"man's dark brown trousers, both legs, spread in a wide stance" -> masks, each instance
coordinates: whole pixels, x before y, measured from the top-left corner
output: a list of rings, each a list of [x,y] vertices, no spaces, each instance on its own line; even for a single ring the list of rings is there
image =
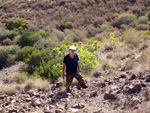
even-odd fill
[[[66,90],[70,90],[70,85],[74,77],[77,79],[81,87],[86,86],[85,81],[83,80],[83,77],[79,74],[79,72],[75,74],[66,74]]]

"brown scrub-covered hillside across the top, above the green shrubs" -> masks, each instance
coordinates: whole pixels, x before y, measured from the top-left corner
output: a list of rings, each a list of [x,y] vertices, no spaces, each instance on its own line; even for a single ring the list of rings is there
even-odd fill
[[[14,17],[29,20],[35,27],[63,20],[72,23],[73,28],[83,29],[103,22],[115,23],[118,15],[133,13],[144,16],[150,10],[149,0],[1,0],[0,20],[5,25]]]

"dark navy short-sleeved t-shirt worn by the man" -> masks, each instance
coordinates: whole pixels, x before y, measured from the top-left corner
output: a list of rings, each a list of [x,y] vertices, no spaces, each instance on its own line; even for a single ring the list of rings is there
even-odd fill
[[[75,53],[73,59],[70,57],[69,54],[67,54],[64,57],[63,63],[66,64],[66,73],[67,74],[75,74],[78,71],[78,62],[79,61],[79,57],[78,55]]]

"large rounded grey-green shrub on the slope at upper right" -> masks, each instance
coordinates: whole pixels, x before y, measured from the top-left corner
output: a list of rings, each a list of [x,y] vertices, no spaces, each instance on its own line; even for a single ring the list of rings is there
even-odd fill
[[[119,26],[123,24],[133,26],[136,22],[136,19],[137,17],[134,14],[124,13],[117,18],[117,23]]]

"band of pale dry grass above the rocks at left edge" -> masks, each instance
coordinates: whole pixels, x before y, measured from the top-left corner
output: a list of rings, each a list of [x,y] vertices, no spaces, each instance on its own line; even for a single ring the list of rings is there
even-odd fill
[[[23,75],[25,76],[25,75]],[[13,78],[13,82],[10,84],[0,84],[0,94],[14,94],[17,91],[21,90],[34,90],[34,91],[39,91],[39,90],[46,90],[49,88],[49,81],[41,78],[36,78],[36,77],[30,77],[28,79],[18,79],[18,75]],[[18,82],[19,80],[19,82]],[[25,81],[22,81],[25,80]]]

